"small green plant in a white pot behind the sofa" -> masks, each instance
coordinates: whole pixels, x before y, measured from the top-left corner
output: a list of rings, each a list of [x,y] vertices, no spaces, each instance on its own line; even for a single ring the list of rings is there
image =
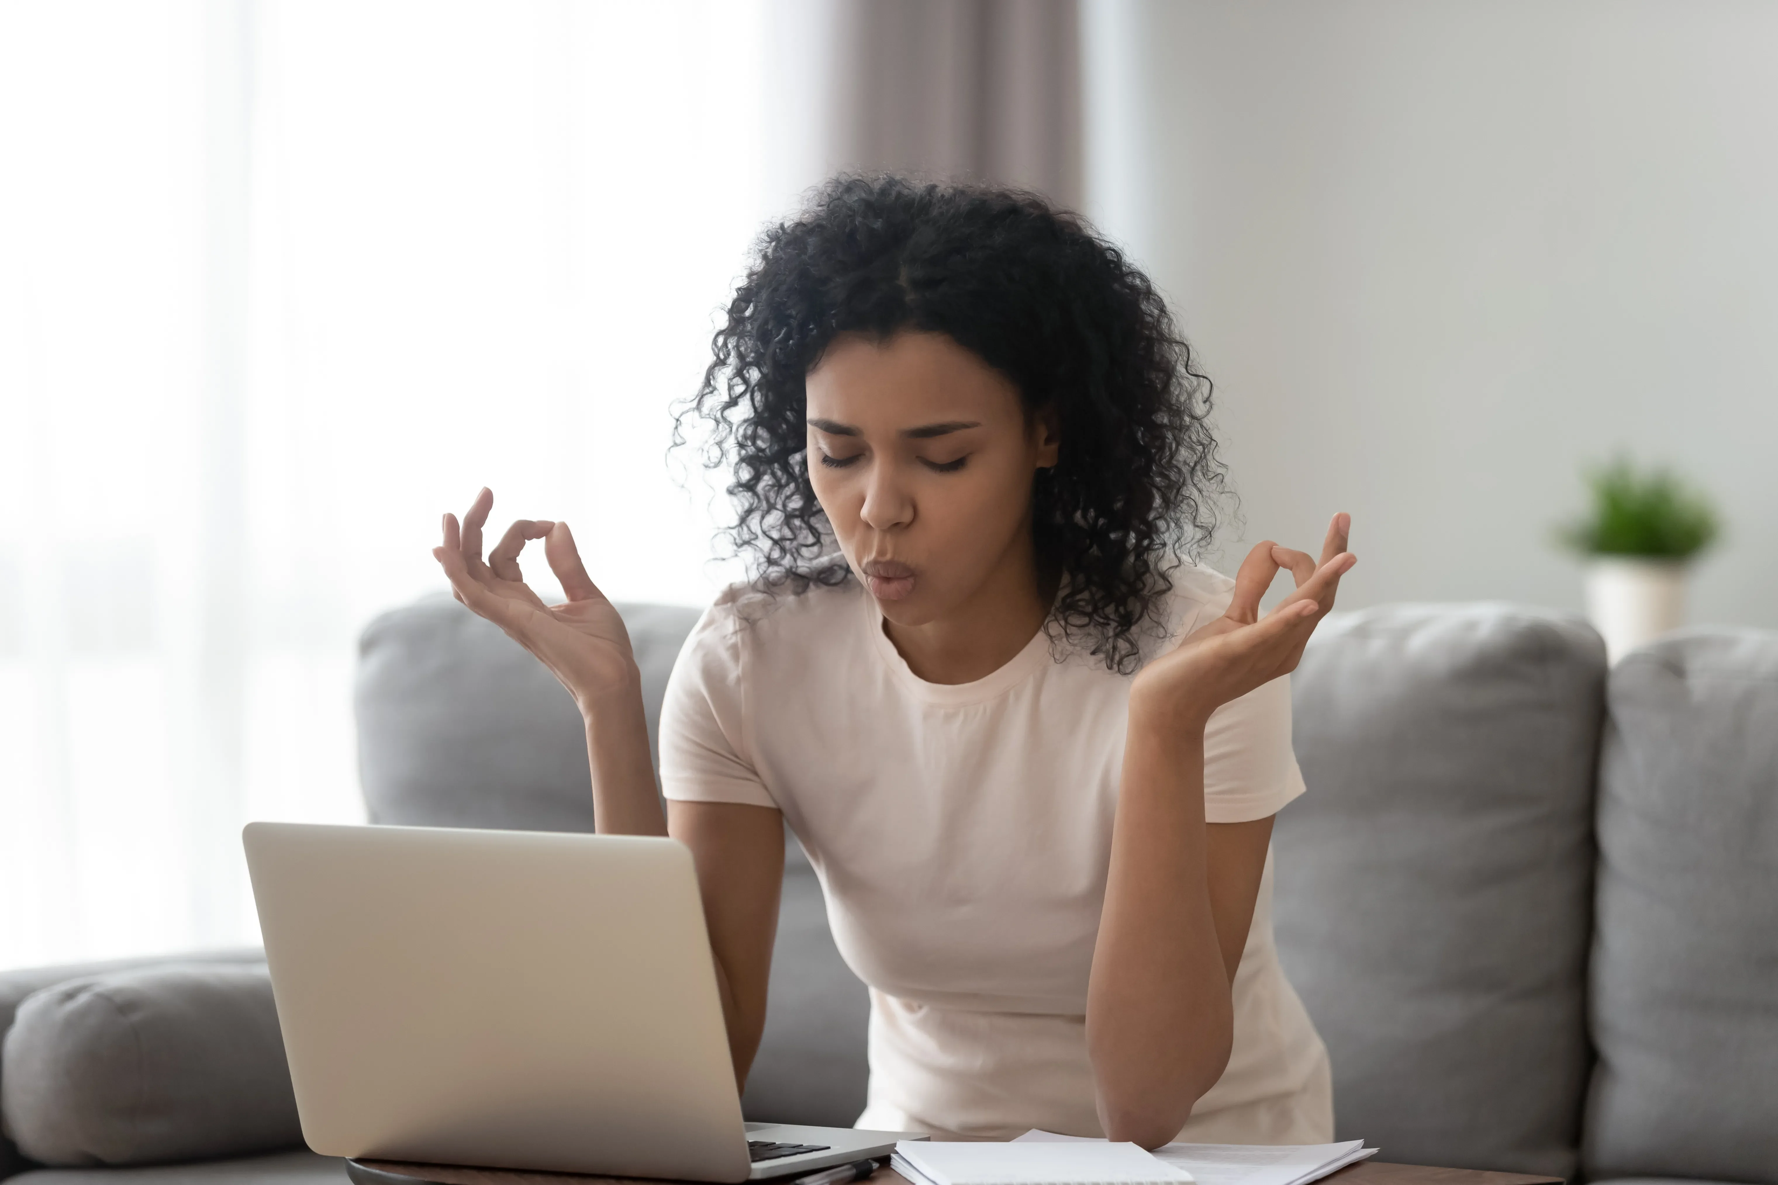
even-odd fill
[[[1590,469],[1586,485],[1590,512],[1558,535],[1586,558],[1586,615],[1616,663],[1684,622],[1689,565],[1719,524],[1671,471],[1638,469],[1629,457]]]

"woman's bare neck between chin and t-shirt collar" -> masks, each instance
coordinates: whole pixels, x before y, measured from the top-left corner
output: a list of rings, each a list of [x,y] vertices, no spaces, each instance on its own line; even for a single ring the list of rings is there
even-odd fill
[[[910,672],[926,682],[974,682],[1010,663],[1044,627],[1056,581],[1038,572],[1031,533],[1017,540],[955,611],[923,625],[884,620]]]

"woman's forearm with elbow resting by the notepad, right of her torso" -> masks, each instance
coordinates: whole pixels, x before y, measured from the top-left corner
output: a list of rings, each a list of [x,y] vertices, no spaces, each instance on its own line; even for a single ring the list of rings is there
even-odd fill
[[[1133,712],[1086,995],[1099,1117],[1115,1141],[1173,1139],[1229,1061],[1205,847],[1202,725]]]

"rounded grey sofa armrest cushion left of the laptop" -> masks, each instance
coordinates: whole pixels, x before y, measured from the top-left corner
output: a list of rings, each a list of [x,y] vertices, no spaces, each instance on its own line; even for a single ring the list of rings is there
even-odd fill
[[[263,966],[169,965],[44,988],[18,1009],[5,1126],[50,1165],[156,1164],[300,1146]]]

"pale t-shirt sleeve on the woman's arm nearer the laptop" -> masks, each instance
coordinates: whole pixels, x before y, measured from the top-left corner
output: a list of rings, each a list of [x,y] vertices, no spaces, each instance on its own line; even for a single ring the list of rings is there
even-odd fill
[[[661,702],[661,792],[693,803],[772,807],[749,759],[740,622],[727,599],[699,618]]]

